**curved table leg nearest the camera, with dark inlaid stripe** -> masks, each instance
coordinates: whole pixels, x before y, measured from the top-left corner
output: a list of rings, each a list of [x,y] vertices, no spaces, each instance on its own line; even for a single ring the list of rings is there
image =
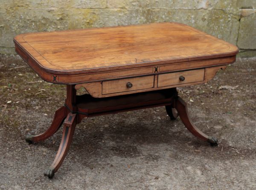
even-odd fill
[[[62,139],[58,149],[58,153],[56,154],[55,159],[52,162],[52,165],[49,167],[49,169],[47,169],[44,172],[44,176],[48,176],[49,179],[51,179],[54,176],[54,174],[57,172],[59,167],[61,167],[61,164],[64,161],[65,156],[67,155],[67,151],[68,151],[68,148],[70,147],[70,143],[73,138],[76,124],[77,124],[76,113],[75,114],[69,113],[67,115],[67,118],[64,121]]]

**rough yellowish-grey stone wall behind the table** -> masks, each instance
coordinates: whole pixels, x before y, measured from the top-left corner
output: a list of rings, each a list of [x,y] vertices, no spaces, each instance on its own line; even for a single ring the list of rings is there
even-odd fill
[[[256,0],[0,0],[0,53],[20,33],[179,22],[256,56]]]

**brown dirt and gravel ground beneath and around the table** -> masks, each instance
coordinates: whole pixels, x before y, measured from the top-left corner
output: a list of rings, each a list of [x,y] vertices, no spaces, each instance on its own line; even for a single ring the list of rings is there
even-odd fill
[[[178,88],[192,120],[219,139],[196,139],[164,107],[84,119],[52,180],[61,130],[29,145],[51,124],[65,86],[42,81],[18,56],[0,56],[0,189],[255,190],[256,60],[242,59],[204,85]],[[79,91],[83,93],[83,91]]]

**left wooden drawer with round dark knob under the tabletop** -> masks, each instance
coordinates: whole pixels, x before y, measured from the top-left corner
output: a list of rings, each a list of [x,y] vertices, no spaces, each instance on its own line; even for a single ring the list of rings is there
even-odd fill
[[[137,91],[147,88],[154,88],[154,75],[102,82],[102,94]]]

